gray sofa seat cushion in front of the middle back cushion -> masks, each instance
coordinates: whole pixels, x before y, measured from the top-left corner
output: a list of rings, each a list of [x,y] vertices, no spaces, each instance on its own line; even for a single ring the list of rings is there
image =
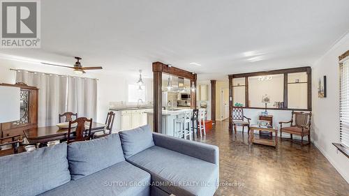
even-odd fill
[[[99,172],[49,190],[41,195],[89,196],[150,194],[150,174],[122,161]]]

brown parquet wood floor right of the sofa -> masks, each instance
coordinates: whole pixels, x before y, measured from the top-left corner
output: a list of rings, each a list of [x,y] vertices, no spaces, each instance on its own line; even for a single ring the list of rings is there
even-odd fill
[[[349,195],[349,184],[313,144],[301,147],[283,141],[279,149],[250,146],[246,131],[235,137],[228,122],[219,121],[199,141],[220,150],[220,181],[225,185],[216,196]]]

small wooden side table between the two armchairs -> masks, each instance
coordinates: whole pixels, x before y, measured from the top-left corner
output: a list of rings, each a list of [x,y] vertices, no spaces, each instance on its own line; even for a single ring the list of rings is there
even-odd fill
[[[259,130],[259,131],[265,131],[269,132],[270,134],[275,133],[275,138],[267,139],[267,138],[256,138],[254,137],[253,131],[254,130]],[[263,145],[268,145],[268,146],[274,146],[276,149],[278,148],[278,130],[277,128],[267,128],[267,127],[260,127],[258,125],[251,125],[250,126],[250,142],[251,144],[263,144]]]

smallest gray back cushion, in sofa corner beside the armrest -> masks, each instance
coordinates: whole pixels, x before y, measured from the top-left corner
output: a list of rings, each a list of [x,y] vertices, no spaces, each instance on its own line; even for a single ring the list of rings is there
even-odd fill
[[[153,134],[149,125],[119,132],[125,158],[154,146]]]

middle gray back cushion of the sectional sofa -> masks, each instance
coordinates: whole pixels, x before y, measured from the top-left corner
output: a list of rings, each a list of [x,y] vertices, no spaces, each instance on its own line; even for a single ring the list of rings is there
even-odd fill
[[[118,134],[68,144],[67,158],[72,180],[88,176],[125,160]]]

